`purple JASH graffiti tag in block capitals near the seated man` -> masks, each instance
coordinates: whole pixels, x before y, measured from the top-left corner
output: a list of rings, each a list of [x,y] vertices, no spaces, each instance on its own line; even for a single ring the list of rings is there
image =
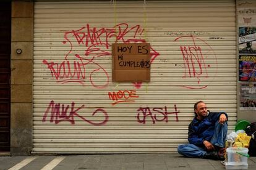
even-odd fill
[[[149,107],[140,107],[137,110],[138,111],[137,121],[139,123],[145,124],[146,118],[149,117],[153,124],[155,124],[156,121],[165,121],[166,123],[168,123],[168,115],[173,115],[173,114],[175,115],[176,121],[179,121],[179,118],[177,115],[179,111],[177,111],[176,105],[174,105],[175,111],[173,112],[168,112],[166,106],[164,106],[164,108],[155,107],[152,110],[155,112],[155,114],[152,114],[153,111],[151,111]],[[159,116],[161,116],[161,118],[159,118]]]

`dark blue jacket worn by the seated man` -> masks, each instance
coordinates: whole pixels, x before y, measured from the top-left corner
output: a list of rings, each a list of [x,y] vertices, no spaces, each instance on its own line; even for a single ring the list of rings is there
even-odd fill
[[[202,120],[198,120],[197,115],[195,115],[195,118],[189,124],[189,144],[203,147],[204,140],[210,142],[215,130],[215,123],[216,121],[219,121],[220,115],[223,113],[226,115],[228,120],[228,115],[225,112],[209,111],[208,116]]]

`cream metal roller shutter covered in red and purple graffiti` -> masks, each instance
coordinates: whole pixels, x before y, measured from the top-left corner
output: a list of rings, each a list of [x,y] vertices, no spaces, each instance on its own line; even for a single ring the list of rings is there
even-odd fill
[[[34,31],[33,153],[176,152],[198,100],[234,129],[233,0],[38,1]],[[116,36],[150,43],[150,83],[111,82]]]

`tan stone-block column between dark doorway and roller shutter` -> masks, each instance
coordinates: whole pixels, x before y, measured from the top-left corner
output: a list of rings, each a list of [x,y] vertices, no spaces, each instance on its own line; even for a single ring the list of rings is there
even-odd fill
[[[11,155],[30,155],[33,129],[33,1],[12,1]]]

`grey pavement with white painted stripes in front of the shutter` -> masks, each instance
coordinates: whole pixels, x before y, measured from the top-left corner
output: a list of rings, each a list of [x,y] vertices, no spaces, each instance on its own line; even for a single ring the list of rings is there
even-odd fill
[[[248,169],[256,169],[256,157],[248,158]],[[225,169],[221,161],[185,158],[178,153],[0,156],[0,169]]]

